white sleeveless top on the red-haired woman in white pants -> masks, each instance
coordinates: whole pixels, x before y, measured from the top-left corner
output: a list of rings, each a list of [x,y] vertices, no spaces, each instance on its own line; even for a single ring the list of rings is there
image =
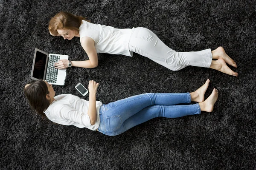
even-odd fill
[[[133,56],[128,44],[132,29],[117,29],[111,26],[89,23],[82,20],[79,27],[80,43],[82,37],[90,37],[94,40],[97,53],[122,54]]]

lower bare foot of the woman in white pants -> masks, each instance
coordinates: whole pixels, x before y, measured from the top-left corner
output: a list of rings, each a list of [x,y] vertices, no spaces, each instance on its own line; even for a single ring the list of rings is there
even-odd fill
[[[213,68],[215,70],[221,71],[222,73],[226,73],[229,74],[231,76],[238,76],[238,73],[232,71],[226,64],[226,62],[224,61],[224,59],[220,58],[216,61],[212,60],[212,64],[210,66],[210,68]]]

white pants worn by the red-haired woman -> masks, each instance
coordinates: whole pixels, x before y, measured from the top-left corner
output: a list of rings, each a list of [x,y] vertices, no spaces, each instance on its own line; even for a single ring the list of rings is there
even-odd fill
[[[129,41],[129,50],[152,59],[172,71],[186,66],[209,68],[212,63],[211,49],[191,52],[176,52],[165,45],[147,28],[134,28]]]

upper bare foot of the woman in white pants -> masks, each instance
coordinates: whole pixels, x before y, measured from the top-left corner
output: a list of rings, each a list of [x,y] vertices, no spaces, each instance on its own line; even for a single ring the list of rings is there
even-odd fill
[[[227,64],[232,65],[235,68],[237,67],[236,62],[226,54],[224,48],[222,47],[218,47],[212,51],[212,59],[220,59],[220,58],[224,59],[224,61]]]

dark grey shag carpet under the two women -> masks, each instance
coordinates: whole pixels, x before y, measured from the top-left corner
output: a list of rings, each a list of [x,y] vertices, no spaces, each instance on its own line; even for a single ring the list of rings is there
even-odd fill
[[[254,0],[0,0],[0,169],[232,169],[256,168],[256,1]],[[23,94],[35,48],[87,59],[79,38],[52,37],[59,11],[116,28],[145,27],[176,51],[223,46],[238,64],[232,77],[209,68],[170,71],[134,54],[99,54],[94,69],[67,69],[57,94],[100,83],[109,103],[147,92],[191,92],[211,79],[219,98],[212,113],[157,118],[119,136],[54,124],[30,109]],[[84,99],[88,100],[88,96]]]

